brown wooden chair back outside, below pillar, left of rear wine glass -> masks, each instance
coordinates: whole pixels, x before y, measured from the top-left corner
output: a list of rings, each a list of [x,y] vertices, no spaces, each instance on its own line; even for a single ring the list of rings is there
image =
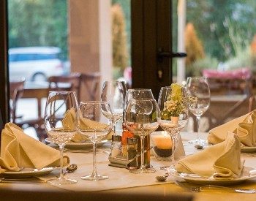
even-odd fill
[[[89,100],[97,100],[97,91],[99,90],[100,73],[82,73],[81,82],[86,88],[86,92],[89,95]]]

